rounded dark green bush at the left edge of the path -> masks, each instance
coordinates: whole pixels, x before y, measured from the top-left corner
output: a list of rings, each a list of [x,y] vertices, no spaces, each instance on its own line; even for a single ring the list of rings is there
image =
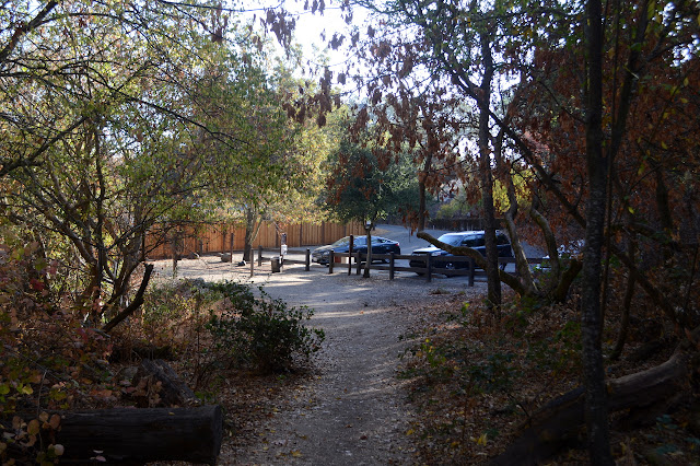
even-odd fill
[[[225,350],[231,364],[283,372],[320,349],[324,331],[304,325],[313,315],[311,308],[288,307],[261,288],[260,298],[256,298],[248,287],[234,282],[214,283],[211,289],[221,292],[225,303],[221,315],[212,315],[207,328],[215,349]]]

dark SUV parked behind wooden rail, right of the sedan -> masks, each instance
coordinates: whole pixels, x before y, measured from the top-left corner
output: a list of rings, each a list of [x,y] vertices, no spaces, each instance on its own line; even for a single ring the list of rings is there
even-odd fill
[[[481,253],[482,256],[486,256],[486,241],[483,235],[483,231],[468,231],[459,233],[445,233],[438,240],[451,246],[471,247]],[[495,232],[495,247],[499,251],[499,257],[513,257],[513,248],[511,247],[511,242],[505,233],[500,231]],[[409,261],[410,267],[425,267],[425,260],[423,257],[421,257],[425,254],[438,257],[433,259],[433,268],[436,269],[454,270],[466,269],[468,267],[468,263],[452,261],[450,258],[454,257],[453,254],[432,245],[413,251],[413,255],[417,257]]]

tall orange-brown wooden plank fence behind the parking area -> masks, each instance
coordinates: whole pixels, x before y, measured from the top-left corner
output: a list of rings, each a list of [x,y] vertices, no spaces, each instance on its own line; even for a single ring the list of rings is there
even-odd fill
[[[319,224],[298,223],[281,226],[272,221],[265,221],[260,226],[253,247],[279,248],[282,234],[287,234],[288,247],[316,246],[334,243],[343,236],[364,234],[360,222]],[[174,244],[175,242],[175,244]],[[147,235],[145,251],[149,259],[166,259],[173,252],[182,257],[192,254],[217,254],[231,251],[243,251],[245,244],[245,225],[232,223],[214,223],[171,229],[163,234]]]

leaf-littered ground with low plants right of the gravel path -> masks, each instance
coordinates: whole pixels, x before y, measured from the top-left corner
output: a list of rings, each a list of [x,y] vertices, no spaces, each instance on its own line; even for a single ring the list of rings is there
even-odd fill
[[[537,407],[580,384],[575,307],[533,308],[509,300],[500,325],[481,303],[465,304],[460,295],[423,310],[423,323],[410,336],[420,342],[406,354],[400,376],[410,380],[410,400],[422,413],[409,433],[425,464],[486,463],[504,451]],[[608,317],[608,351],[616,317]],[[619,362],[606,362],[609,377],[656,365],[674,348],[667,345],[640,362],[648,338],[638,331],[630,339]],[[632,429],[623,429],[626,413],[612,416],[618,464],[700,464],[697,395],[689,385],[670,413],[652,415]],[[580,441],[550,464],[586,463]]]

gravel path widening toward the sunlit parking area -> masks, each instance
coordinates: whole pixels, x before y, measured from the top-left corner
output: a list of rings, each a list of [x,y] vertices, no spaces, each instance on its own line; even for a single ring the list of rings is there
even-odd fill
[[[404,230],[404,229],[400,229]],[[397,229],[396,235],[405,234]],[[388,234],[387,234],[388,233]],[[378,235],[392,237],[392,231]],[[422,246],[417,238],[411,249]],[[408,244],[406,244],[408,246]],[[160,268],[161,277],[167,270]],[[431,283],[415,273],[373,271],[372,277],[334,275],[315,266],[284,266],[282,273],[256,271],[215,259],[180,263],[180,276],[237,279],[264,284],[272,298],[315,310],[311,325],[326,331],[317,358],[318,373],[290,396],[285,408],[257,428],[256,444],[233,450],[224,444],[219,464],[244,465],[384,465],[416,464],[417,452],[407,431],[413,416],[396,377],[398,356],[409,345],[405,335],[420,318],[423,303],[436,293],[483,293],[485,283],[468,288],[467,279],[436,276]],[[199,270],[197,270],[199,269]]]

